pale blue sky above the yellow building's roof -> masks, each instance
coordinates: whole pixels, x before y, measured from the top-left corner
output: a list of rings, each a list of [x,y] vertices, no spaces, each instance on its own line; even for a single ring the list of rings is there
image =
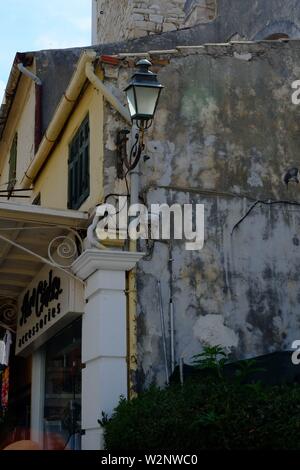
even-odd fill
[[[16,52],[91,44],[91,0],[0,0],[0,104]]]

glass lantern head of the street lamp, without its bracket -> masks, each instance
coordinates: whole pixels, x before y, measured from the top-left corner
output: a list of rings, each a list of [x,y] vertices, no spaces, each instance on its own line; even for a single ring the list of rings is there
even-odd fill
[[[157,74],[149,70],[152,65],[149,60],[139,60],[136,65],[139,69],[124,91],[131,120],[136,121],[139,129],[149,129],[164,87],[157,80]]]

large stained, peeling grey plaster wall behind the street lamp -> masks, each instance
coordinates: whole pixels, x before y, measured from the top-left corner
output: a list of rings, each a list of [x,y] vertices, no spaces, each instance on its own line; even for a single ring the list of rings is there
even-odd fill
[[[111,86],[131,75],[124,62]],[[285,171],[299,166],[300,43],[243,44],[153,55],[165,85],[142,162],[141,196],[152,202],[205,205],[205,246],[156,243],[139,265],[138,382],[164,382],[157,280],[168,324],[173,262],[176,359],[206,344],[235,358],[289,349],[300,339],[299,187]],[[169,62],[169,63],[168,63]],[[126,65],[127,64],[127,65]],[[110,118],[109,118],[110,116]],[[118,189],[116,129],[106,108],[105,191]],[[126,126],[125,126],[126,127]],[[259,203],[233,231],[257,200]],[[291,203],[289,203],[290,201]],[[146,249],[142,244],[141,249]],[[168,333],[169,345],[169,333]]]

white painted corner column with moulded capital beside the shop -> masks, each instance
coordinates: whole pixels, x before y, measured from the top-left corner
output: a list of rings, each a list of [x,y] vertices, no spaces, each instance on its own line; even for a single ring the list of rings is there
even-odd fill
[[[110,415],[120,396],[127,397],[126,271],[143,253],[89,249],[72,266],[86,281],[82,318],[83,450],[101,450],[102,411]]]

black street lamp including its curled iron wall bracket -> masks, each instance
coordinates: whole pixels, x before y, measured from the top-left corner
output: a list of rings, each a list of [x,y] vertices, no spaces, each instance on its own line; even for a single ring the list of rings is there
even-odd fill
[[[133,74],[130,83],[125,88],[129,113],[132,123],[136,123],[139,132],[135,136],[130,155],[127,155],[128,134],[122,129],[117,136],[117,176],[125,178],[139,163],[144,145],[144,132],[149,129],[154,118],[159,97],[164,88],[157,79],[157,74],[149,70],[151,62],[142,59],[137,62],[138,70]],[[147,159],[147,157],[144,157]],[[124,172],[124,166],[127,171]]]

